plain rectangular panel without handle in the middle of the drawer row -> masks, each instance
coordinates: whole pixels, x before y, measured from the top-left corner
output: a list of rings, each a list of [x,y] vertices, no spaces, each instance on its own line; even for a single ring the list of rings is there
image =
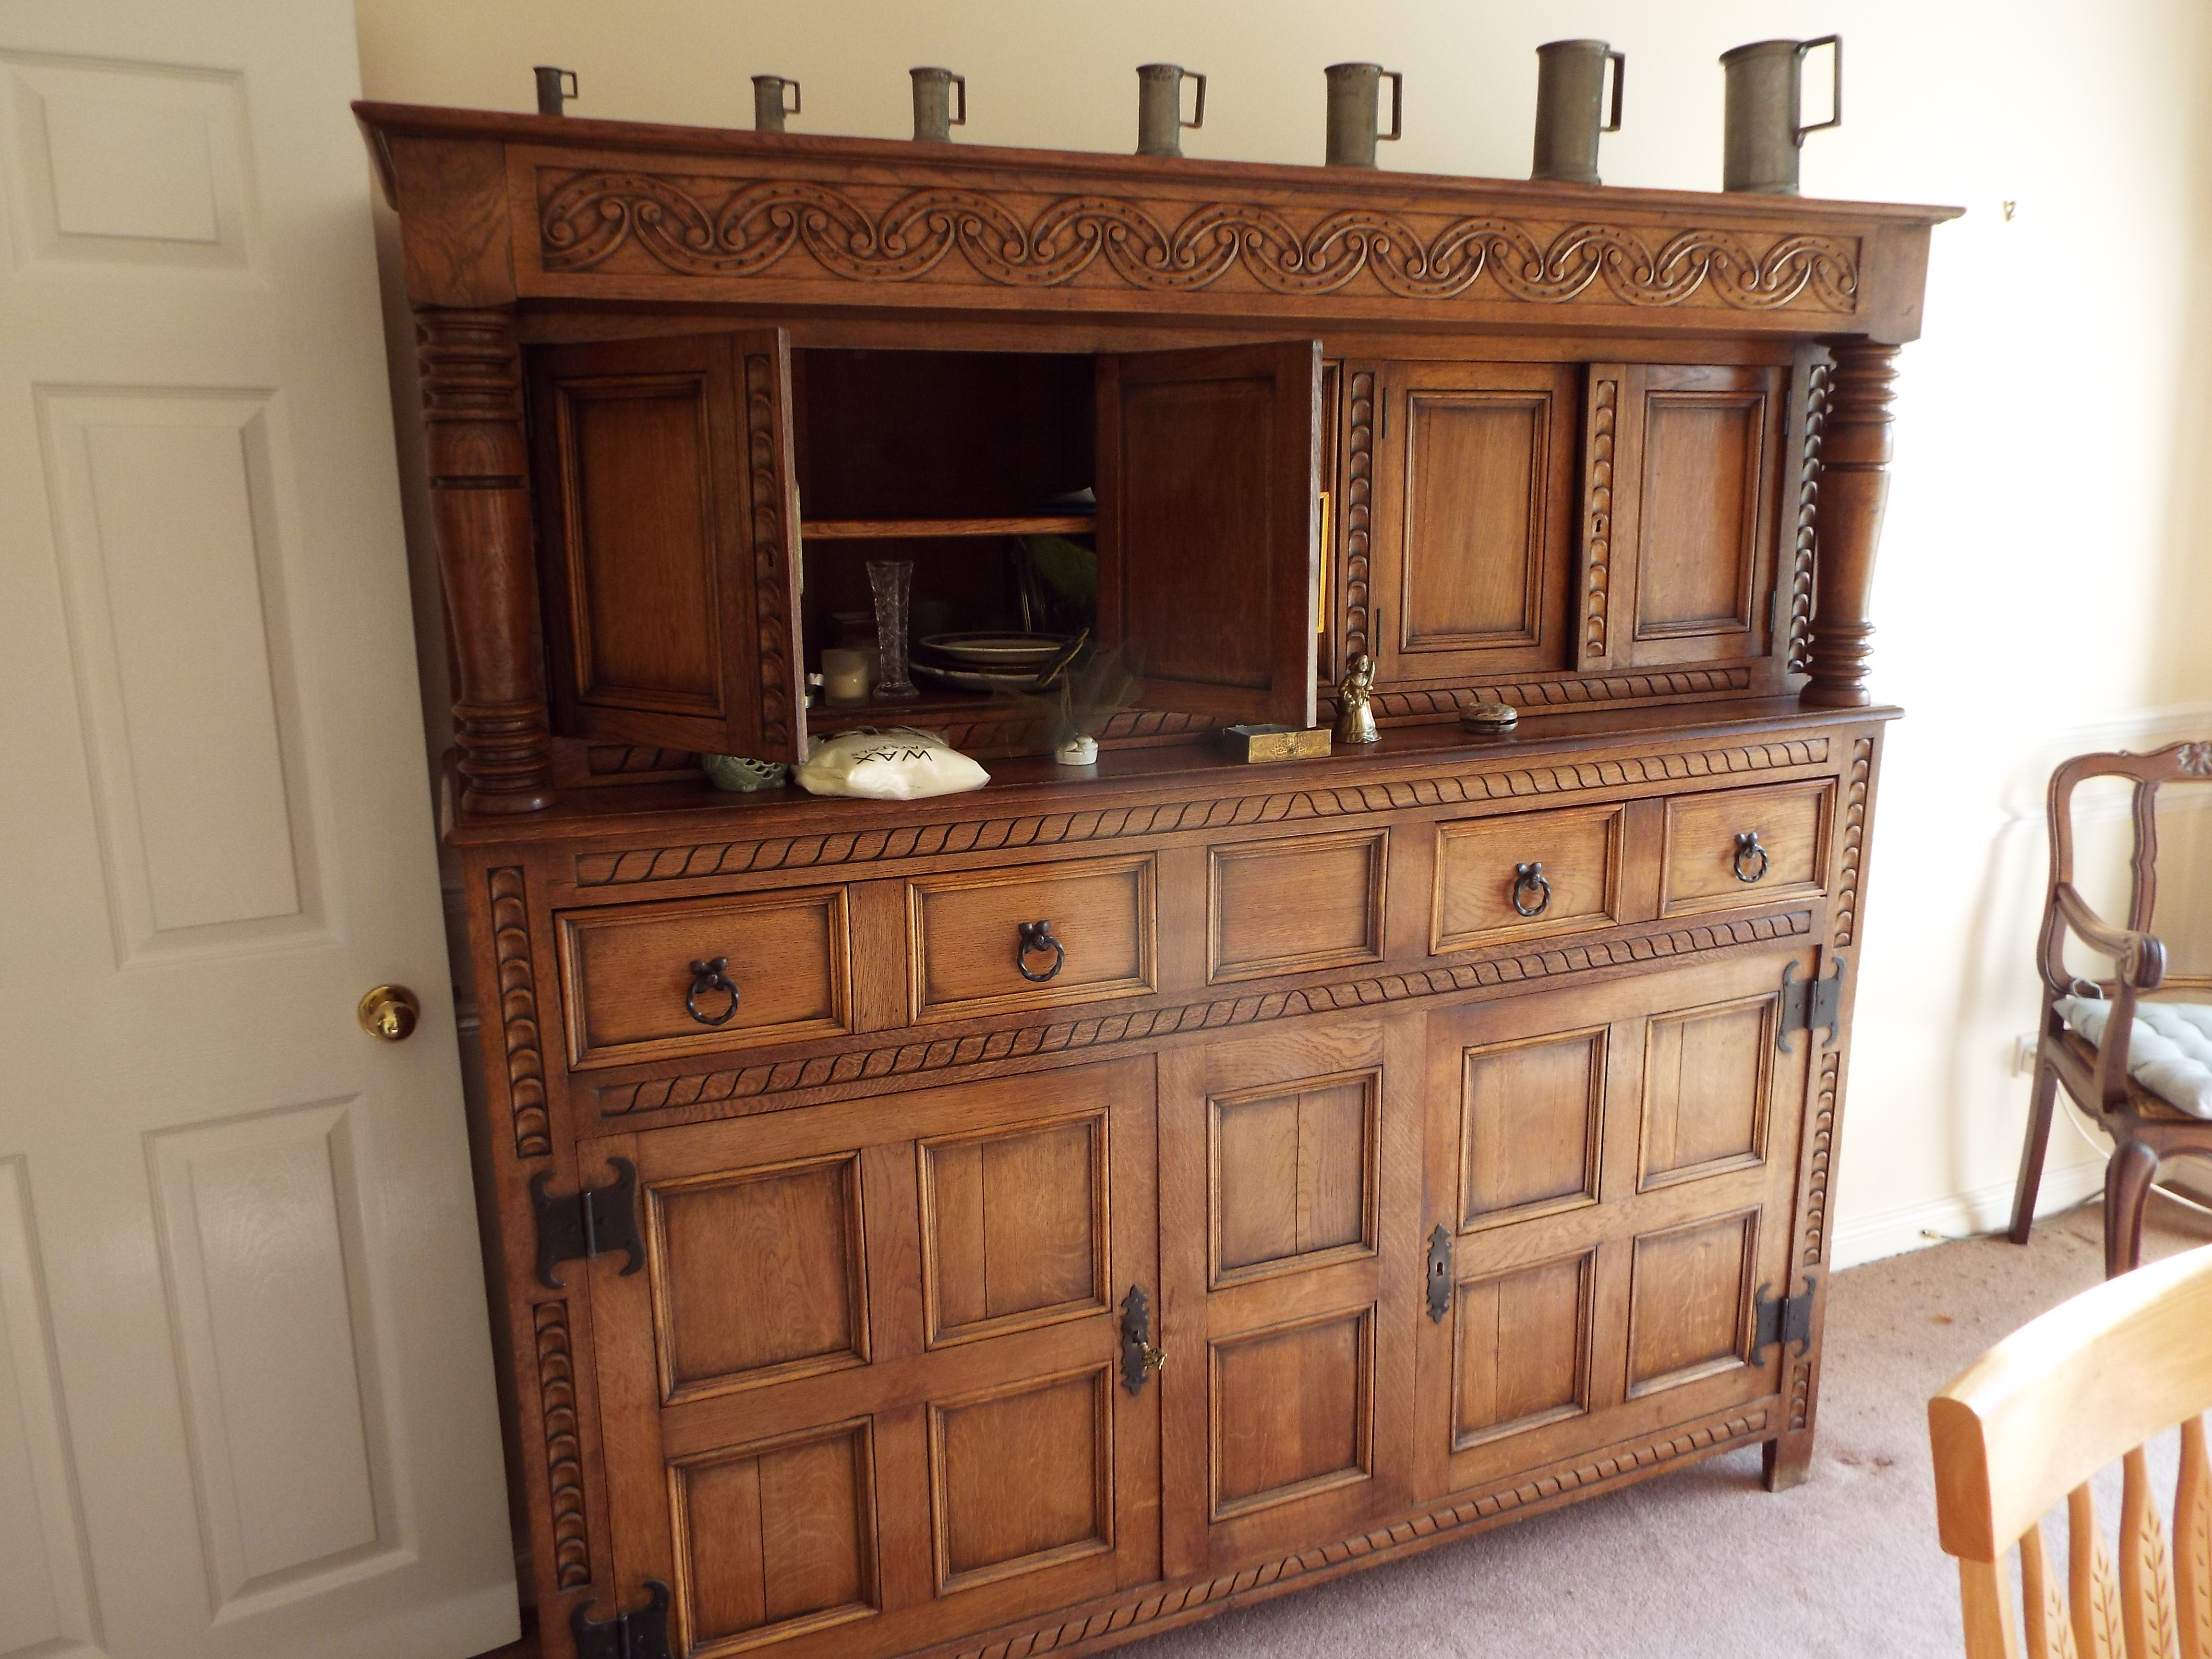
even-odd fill
[[[1210,852],[1208,984],[1383,960],[1389,830]]]

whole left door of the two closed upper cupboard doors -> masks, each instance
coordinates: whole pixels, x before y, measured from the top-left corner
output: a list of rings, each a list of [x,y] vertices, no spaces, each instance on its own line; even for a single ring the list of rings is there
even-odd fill
[[[1571,363],[1385,363],[1376,679],[1568,668]]]

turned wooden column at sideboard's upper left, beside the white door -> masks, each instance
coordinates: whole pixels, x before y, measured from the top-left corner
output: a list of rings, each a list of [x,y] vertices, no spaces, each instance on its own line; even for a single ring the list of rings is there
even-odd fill
[[[453,739],[469,812],[553,803],[538,677],[538,568],[513,312],[416,310],[429,498],[438,522]]]

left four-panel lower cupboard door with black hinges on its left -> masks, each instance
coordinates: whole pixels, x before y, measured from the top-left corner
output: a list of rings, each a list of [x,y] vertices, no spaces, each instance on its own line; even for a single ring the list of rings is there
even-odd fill
[[[1157,1579],[1152,1104],[1133,1060],[591,1144],[646,1254],[591,1263],[622,1604],[887,1655]]]

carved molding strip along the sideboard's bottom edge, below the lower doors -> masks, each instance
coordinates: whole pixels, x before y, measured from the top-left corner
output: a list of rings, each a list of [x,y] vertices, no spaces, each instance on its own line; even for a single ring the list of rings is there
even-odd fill
[[[1663,1462],[1690,1458],[1699,1451],[1725,1447],[1734,1440],[1745,1440],[1765,1427],[1765,1411],[1745,1411],[1739,1418],[1683,1429],[1663,1440],[1624,1447],[1613,1455],[1575,1464],[1573,1469],[1559,1469],[1517,1486],[1502,1486],[1498,1491],[1482,1493],[1480,1498],[1451,1504],[1449,1509],[1416,1515],[1413,1520],[1398,1522],[1396,1526],[1383,1526],[1371,1533],[1347,1537],[1340,1544],[1327,1544],[1323,1548],[1305,1551],[1303,1555],[1287,1555],[1281,1562],[1267,1562],[1265,1566],[1248,1566],[1243,1573],[1230,1573],[1181,1590],[1168,1590],[1166,1595],[1146,1595],[1137,1601],[1124,1601],[1121,1606],[1093,1613],[1086,1619],[1022,1630],[1020,1635],[993,1641],[987,1648],[969,1648],[960,1655],[960,1659],[1031,1659],[1031,1655],[1040,1652],[1060,1652],[1082,1641],[1128,1630],[1130,1626],[1170,1619],[1177,1613],[1188,1613],[1190,1608],[1203,1608],[1214,1601],[1245,1595],[1248,1590],[1261,1590],[1270,1584],[1305,1577],[1307,1573],[1318,1573],[1323,1568],[1358,1559],[1360,1555],[1400,1548],[1422,1537],[1436,1537],[1438,1533],[1453,1533],[1462,1526],[1491,1520],[1493,1515],[1542,1504],[1559,1493],[1582,1491],[1584,1486],[1601,1486],[1608,1480],[1619,1480],[1621,1475],[1639,1469],[1652,1469]]]

